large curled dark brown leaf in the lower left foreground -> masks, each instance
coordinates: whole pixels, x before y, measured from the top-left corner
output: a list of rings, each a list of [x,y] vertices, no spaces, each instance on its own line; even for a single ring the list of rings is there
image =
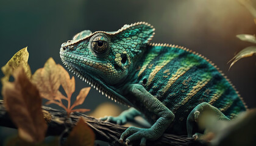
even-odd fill
[[[13,123],[18,127],[19,136],[29,142],[41,142],[47,125],[41,110],[41,98],[22,67],[13,72],[15,82],[4,83],[2,95]]]

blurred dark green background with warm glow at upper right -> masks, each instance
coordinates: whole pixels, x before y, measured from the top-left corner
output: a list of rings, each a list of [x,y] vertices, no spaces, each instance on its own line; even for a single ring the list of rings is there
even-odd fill
[[[76,33],[85,29],[115,31],[137,21],[155,27],[152,42],[179,44],[213,61],[240,91],[249,108],[256,107],[256,58],[244,58],[228,71],[227,61],[235,52],[252,45],[235,35],[254,34],[256,30],[251,13],[234,0],[1,0],[0,66],[26,46],[33,73],[49,57],[62,64],[60,45]],[[87,83],[76,78],[73,96],[85,86]],[[91,89],[80,107],[94,111],[103,102],[112,101]],[[9,131],[0,129],[1,142]]]

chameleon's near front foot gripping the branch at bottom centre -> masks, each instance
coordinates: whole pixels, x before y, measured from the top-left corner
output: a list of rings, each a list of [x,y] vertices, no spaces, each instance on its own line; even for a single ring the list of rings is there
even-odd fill
[[[123,143],[124,138],[126,136],[129,136],[126,138],[126,145],[129,144],[130,141],[135,141],[140,139],[140,145],[146,145],[146,140],[156,139],[157,136],[154,136],[154,132],[151,130],[151,128],[144,129],[144,128],[137,128],[137,127],[129,127],[126,131],[124,131],[123,134],[121,134],[121,137],[119,139],[119,142]]]

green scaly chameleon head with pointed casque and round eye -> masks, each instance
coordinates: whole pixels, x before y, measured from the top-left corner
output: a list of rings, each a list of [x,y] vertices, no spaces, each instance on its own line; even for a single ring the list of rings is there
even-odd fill
[[[96,86],[116,86],[127,77],[135,58],[152,39],[148,23],[125,25],[116,32],[84,30],[62,44],[60,57],[66,66]]]

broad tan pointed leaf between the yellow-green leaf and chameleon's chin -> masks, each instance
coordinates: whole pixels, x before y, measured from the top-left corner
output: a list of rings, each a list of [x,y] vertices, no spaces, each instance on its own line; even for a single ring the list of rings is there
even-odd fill
[[[60,69],[52,58],[49,58],[44,64],[44,68],[37,69],[32,76],[32,82],[35,83],[40,91],[41,97],[48,100],[62,96],[60,88]],[[61,98],[60,97],[60,98]]]

